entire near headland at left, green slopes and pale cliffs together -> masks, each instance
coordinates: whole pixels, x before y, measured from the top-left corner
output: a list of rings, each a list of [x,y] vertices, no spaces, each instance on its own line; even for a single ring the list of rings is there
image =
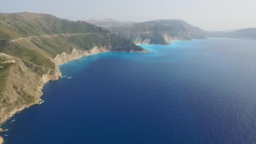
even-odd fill
[[[0,124],[41,101],[58,64],[98,52],[147,52],[107,29],[48,14],[0,14]]]

